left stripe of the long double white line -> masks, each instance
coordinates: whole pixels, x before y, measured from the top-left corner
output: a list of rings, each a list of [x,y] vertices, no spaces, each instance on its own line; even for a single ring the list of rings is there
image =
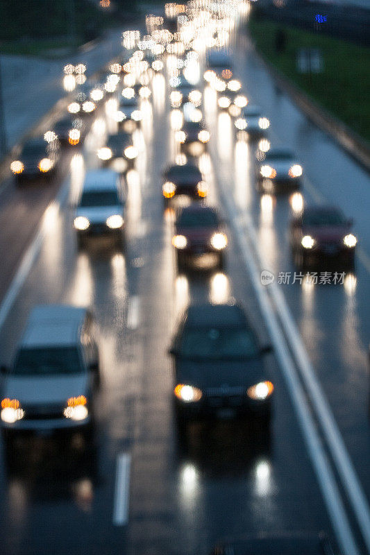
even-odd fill
[[[280,331],[280,326],[273,307],[271,306],[271,300],[267,294],[267,289],[265,289],[260,283],[260,271],[258,270],[258,266],[255,264],[253,259],[251,248],[249,247],[241,226],[233,217],[235,210],[231,204],[230,198],[226,194],[224,187],[222,187],[222,189],[224,203],[230,214],[230,224],[233,226],[235,237],[244,258],[244,264],[251,273],[253,289],[255,290],[255,294],[258,298],[262,316],[267,324],[271,340],[274,343],[276,356],[280,363],[280,368],[283,370],[285,382],[296,411],[298,422],[301,425],[303,437],[305,438],[305,443],[308,447],[312,466],[316,472],[321,493],[326,503],[326,509],[333,524],[333,529],[335,530],[335,535],[338,538],[344,555],[359,555],[360,552],[358,551],[355,539],[353,538],[353,533],[346,516],[342,497],[340,496],[338,486],[335,482],[333,470],[330,468],[330,463],[317,434],[312,414],[310,413],[308,403],[305,400],[305,394],[301,383],[299,382],[296,368],[287,348],[285,338],[283,333]]]

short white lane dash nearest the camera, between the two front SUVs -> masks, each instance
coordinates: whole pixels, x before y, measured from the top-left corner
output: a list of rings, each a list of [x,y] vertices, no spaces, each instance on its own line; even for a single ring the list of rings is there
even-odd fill
[[[117,456],[115,502],[113,506],[113,524],[115,526],[125,526],[128,522],[130,468],[131,455],[120,453]]]

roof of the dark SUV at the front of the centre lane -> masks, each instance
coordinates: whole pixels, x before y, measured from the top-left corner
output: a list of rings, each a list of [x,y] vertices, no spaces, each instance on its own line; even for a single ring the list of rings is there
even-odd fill
[[[194,303],[187,307],[186,317],[187,325],[191,327],[245,326],[247,322],[244,309],[237,304]]]

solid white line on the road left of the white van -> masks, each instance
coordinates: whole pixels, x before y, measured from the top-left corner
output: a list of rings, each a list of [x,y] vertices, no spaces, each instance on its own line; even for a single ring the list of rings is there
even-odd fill
[[[53,200],[45,210],[35,237],[31,245],[26,250],[26,253],[24,253],[22,262],[21,264],[19,264],[17,273],[15,274],[15,277],[13,278],[8,291],[6,291],[6,295],[0,305],[0,329],[1,327],[3,327],[3,324],[8,317],[9,311],[13,303],[15,302],[15,299],[17,298],[19,290],[22,288],[24,282],[26,281],[31,268],[40,253],[42,241],[44,241],[44,237],[47,232],[47,226],[45,225],[47,221],[47,216],[50,213],[58,214],[60,207],[65,203],[67,199],[67,184],[68,180],[66,180],[65,183],[62,185],[56,199]]]

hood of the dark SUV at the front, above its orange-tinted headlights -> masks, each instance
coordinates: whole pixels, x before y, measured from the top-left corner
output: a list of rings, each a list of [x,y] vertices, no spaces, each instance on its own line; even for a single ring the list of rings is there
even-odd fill
[[[262,359],[198,361],[178,359],[176,380],[201,389],[248,388],[266,379]]]

